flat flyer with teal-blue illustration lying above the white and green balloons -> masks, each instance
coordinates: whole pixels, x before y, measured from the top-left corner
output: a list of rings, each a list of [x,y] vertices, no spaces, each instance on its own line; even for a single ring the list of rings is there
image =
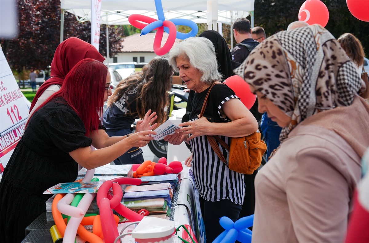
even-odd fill
[[[103,184],[102,181],[89,181],[89,182],[67,182],[59,183],[50,187],[44,191],[43,194],[55,194],[55,193],[94,193],[99,190],[99,187]]]

